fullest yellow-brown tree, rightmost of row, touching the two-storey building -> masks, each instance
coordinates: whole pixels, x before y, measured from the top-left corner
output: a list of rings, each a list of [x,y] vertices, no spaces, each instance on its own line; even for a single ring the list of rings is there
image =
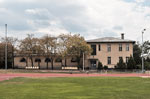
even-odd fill
[[[81,68],[80,61],[81,58],[83,58],[83,53],[85,55],[89,55],[91,51],[92,51],[91,47],[80,35],[75,34],[69,37],[67,44],[67,53],[77,59],[78,68]]]

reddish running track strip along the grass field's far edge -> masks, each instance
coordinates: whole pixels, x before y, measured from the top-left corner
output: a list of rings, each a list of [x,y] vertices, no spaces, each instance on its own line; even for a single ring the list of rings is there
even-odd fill
[[[150,77],[150,74],[61,74],[61,73],[0,73],[0,81],[15,77]]]

